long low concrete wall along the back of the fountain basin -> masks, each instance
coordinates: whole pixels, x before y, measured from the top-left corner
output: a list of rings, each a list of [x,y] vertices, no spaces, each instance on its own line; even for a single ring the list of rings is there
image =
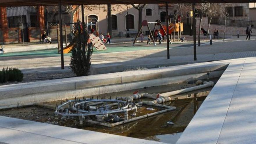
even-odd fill
[[[227,63],[200,63],[0,86],[0,108],[219,77]]]

